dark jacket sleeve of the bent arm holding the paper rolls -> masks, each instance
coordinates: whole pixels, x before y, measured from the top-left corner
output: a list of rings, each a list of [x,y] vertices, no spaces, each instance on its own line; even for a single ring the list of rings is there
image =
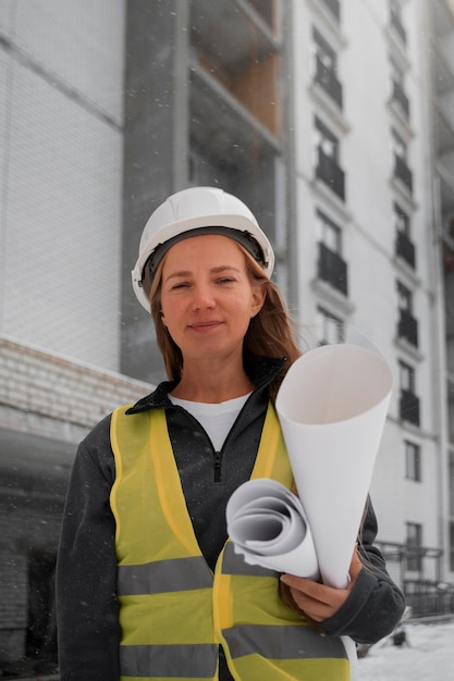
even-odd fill
[[[376,643],[391,633],[402,617],[405,598],[386,572],[382,554],[373,546],[377,531],[377,518],[369,500],[358,543],[364,567],[346,602],[322,622],[329,635],[347,635],[357,643]]]

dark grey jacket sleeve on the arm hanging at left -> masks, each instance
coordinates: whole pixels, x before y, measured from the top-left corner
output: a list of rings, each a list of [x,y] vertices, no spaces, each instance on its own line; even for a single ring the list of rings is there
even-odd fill
[[[109,426],[110,418],[79,445],[66,496],[57,561],[61,681],[120,678]]]

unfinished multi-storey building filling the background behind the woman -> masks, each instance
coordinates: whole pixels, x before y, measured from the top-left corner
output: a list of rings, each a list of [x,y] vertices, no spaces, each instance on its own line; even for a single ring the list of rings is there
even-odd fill
[[[69,471],[163,377],[131,270],[188,185],[257,214],[303,349],[352,326],[389,361],[379,541],[417,614],[453,609],[452,5],[0,3],[0,669],[54,663]]]

